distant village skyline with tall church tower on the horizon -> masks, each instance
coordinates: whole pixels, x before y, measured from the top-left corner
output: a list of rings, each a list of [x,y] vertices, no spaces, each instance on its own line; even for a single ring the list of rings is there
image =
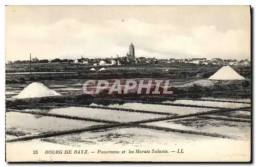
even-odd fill
[[[129,46],[129,53],[123,57],[116,55],[115,57],[110,58],[83,58],[80,59],[53,59],[53,60],[39,60],[36,57],[32,58],[32,63],[75,63],[75,64],[86,64],[86,65],[134,65],[134,64],[157,64],[157,63],[191,63],[199,65],[209,65],[209,66],[249,66],[251,62],[248,59],[245,60],[236,60],[236,59],[226,59],[221,58],[212,58],[207,60],[206,58],[190,58],[190,59],[157,59],[157,58],[146,58],[146,57],[135,57],[135,49],[133,43]],[[17,60],[17,61],[7,61],[7,64],[25,64],[30,63],[30,60]]]

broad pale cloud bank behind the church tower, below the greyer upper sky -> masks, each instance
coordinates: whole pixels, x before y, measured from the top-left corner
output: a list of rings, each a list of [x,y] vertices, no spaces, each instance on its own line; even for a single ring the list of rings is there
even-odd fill
[[[6,29],[7,60],[124,56],[130,43],[136,56],[157,58],[250,57],[250,32],[218,31],[215,26],[189,28],[151,24],[135,18],[87,23],[65,18],[51,24],[10,23]]]

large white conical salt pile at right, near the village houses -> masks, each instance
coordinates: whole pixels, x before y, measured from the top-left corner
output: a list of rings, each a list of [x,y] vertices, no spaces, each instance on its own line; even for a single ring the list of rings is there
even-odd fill
[[[230,66],[223,66],[214,75],[212,75],[209,80],[245,80],[244,77],[240,76],[233,68]]]

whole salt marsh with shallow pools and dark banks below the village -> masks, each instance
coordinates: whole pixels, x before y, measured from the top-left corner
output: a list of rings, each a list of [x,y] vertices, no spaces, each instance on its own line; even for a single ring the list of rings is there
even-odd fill
[[[245,81],[219,81],[210,86],[182,86],[207,79],[219,67],[155,64],[106,67],[103,73],[77,70],[74,64],[33,64],[34,72],[75,72],[6,75],[6,142],[9,147],[34,144],[66,146],[134,146],[228,142],[249,144],[251,88]],[[22,65],[6,73],[27,72]],[[169,71],[162,71],[168,68]],[[20,69],[24,69],[23,71]],[[249,68],[236,68],[250,82]],[[168,79],[174,94],[105,94],[88,96],[88,79]],[[59,97],[14,99],[28,84],[40,82]],[[231,146],[230,146],[231,147]]]

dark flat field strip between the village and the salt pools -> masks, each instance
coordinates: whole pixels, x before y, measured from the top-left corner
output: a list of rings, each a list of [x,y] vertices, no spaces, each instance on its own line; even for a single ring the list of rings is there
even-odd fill
[[[96,71],[90,71],[94,67]],[[105,67],[106,71],[98,72],[100,68]],[[26,83],[26,81],[44,81],[44,80],[66,80],[66,79],[122,79],[122,78],[161,78],[161,79],[206,79],[214,74],[219,66],[201,66],[190,63],[183,64],[139,64],[134,66],[92,66],[73,64],[73,63],[47,63],[32,64],[33,74],[27,74],[29,64],[10,64],[6,65],[6,83]],[[250,79],[250,67],[233,67],[240,75]],[[162,71],[168,69],[168,71]],[[59,72],[48,74],[46,72]],[[14,73],[14,74],[13,74]],[[15,75],[16,73],[16,75]],[[19,74],[21,73],[21,74]],[[8,75],[12,74],[12,75]]]

